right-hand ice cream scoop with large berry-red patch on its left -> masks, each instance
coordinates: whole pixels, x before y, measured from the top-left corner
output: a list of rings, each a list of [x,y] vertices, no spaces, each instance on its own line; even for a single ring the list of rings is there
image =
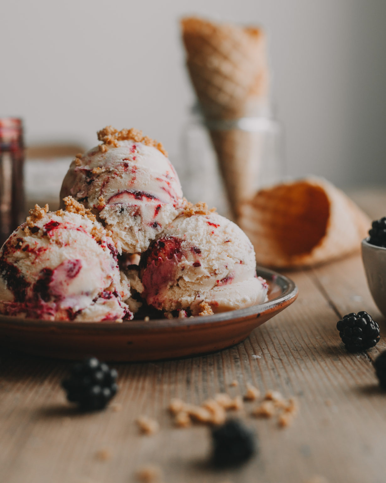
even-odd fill
[[[266,300],[268,286],[256,277],[255,252],[233,222],[205,203],[177,217],[140,262],[142,296],[160,310],[216,313]]]

